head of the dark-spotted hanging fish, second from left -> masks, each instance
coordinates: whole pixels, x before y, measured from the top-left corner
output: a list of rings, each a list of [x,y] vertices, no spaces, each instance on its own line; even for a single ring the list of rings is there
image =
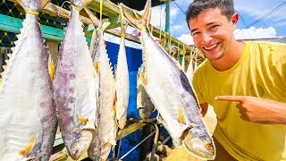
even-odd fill
[[[74,142],[71,145],[70,156],[72,159],[77,160],[88,150],[92,141],[92,132],[88,130],[81,130],[74,135]]]

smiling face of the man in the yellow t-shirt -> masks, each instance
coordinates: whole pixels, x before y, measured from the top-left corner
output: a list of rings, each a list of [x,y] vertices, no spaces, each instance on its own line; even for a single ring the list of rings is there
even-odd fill
[[[218,8],[212,8],[189,20],[195,46],[210,61],[219,60],[227,53],[233,40],[235,19],[238,17],[232,16],[231,21],[228,21]]]

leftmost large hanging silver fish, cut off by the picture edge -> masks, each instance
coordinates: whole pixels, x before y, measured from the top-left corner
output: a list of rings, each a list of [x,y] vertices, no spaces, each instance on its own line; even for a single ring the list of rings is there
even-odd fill
[[[26,11],[26,19],[2,73],[0,160],[48,160],[56,115],[48,54],[38,25],[38,13],[46,4],[40,0],[18,3]]]

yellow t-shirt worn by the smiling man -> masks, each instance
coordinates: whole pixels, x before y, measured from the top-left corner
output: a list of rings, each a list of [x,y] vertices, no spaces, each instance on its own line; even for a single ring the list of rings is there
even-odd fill
[[[198,102],[214,106],[214,137],[238,160],[285,160],[286,125],[250,123],[240,119],[237,103],[215,96],[265,97],[286,103],[286,44],[245,42],[240,61],[216,71],[210,61],[199,65],[193,87]]]

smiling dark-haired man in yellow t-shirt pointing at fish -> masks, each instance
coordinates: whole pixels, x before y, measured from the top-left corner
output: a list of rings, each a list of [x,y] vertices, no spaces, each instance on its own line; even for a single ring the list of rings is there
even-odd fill
[[[193,87],[203,115],[214,106],[215,160],[285,160],[286,45],[235,40],[233,0],[195,0],[186,20],[207,58]]]

